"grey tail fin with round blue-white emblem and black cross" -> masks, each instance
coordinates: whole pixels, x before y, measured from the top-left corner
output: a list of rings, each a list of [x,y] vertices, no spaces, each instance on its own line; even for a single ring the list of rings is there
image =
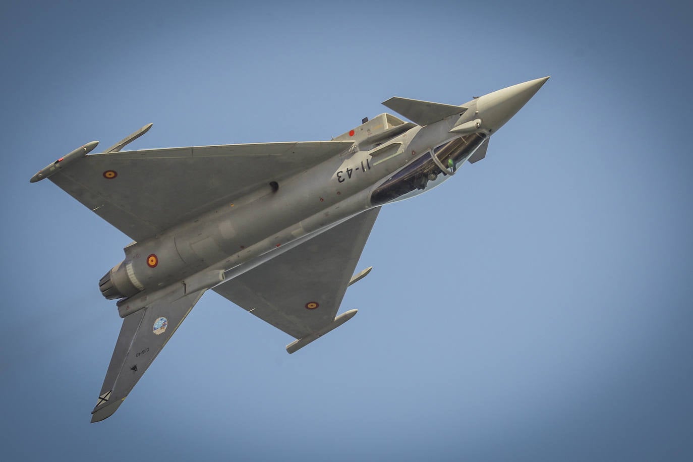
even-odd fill
[[[192,292],[174,301],[161,299],[123,319],[101,393],[91,411],[92,423],[113,415],[203,293]]]

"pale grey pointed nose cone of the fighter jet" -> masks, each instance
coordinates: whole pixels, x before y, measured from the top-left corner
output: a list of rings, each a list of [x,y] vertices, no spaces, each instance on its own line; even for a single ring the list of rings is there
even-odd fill
[[[486,130],[495,132],[532,99],[549,77],[518,83],[477,98],[477,111]]]

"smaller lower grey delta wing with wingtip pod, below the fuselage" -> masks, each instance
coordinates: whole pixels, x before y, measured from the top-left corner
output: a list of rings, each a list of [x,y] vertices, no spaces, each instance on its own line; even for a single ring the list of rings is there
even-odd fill
[[[212,290],[305,346],[353,317],[335,319],[380,207],[306,240]]]

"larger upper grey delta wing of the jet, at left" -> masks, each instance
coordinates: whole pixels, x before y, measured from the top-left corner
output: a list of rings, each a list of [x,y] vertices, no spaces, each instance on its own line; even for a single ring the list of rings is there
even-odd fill
[[[269,193],[270,181],[281,185],[351,145],[308,141],[106,152],[78,159],[49,179],[140,241],[252,190],[265,186]]]

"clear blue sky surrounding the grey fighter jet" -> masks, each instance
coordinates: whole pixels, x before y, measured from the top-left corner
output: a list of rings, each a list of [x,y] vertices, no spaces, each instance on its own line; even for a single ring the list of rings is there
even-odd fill
[[[681,2],[0,6],[7,460],[690,460],[693,37]],[[359,314],[290,337],[206,294],[89,424],[129,240],[39,168],[329,139],[552,75],[480,163],[380,213]]]

